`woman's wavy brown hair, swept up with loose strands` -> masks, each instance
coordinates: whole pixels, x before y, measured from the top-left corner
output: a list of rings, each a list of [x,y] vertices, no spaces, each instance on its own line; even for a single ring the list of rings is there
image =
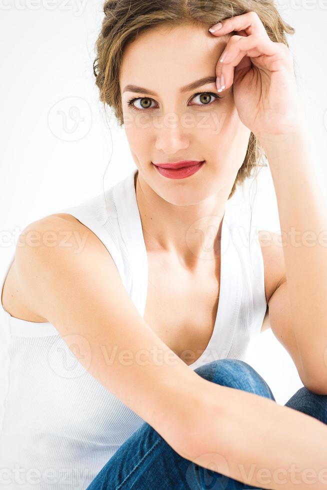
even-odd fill
[[[191,24],[208,29],[220,20],[249,11],[258,14],[269,38],[288,46],[285,34],[293,27],[284,22],[272,0],[107,0],[104,18],[96,39],[93,72],[100,100],[113,109],[118,125],[123,125],[119,73],[124,47],[145,30],[159,25]],[[228,199],[260,164],[263,150],[251,132],[244,161],[240,166]]]

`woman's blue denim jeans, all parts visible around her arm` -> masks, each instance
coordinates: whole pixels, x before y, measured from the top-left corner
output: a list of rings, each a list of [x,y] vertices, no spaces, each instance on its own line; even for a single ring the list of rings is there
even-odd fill
[[[219,359],[194,369],[203,378],[274,400],[268,384],[249,364]],[[302,386],[286,406],[327,423],[327,395]],[[110,457],[86,490],[242,490],[259,488],[181,457],[144,422]]]

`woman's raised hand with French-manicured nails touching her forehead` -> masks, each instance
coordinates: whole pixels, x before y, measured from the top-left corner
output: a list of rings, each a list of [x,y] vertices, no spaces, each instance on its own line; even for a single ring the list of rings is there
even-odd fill
[[[243,124],[259,139],[260,135],[288,134],[296,129],[300,107],[293,56],[286,44],[272,41],[253,11],[212,28],[217,29],[212,32],[216,37],[237,32],[229,37],[216,64],[216,76],[218,89],[233,85]]]

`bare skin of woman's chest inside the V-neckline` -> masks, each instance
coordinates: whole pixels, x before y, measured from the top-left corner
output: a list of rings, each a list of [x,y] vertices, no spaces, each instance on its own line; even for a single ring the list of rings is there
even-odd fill
[[[205,350],[213,332],[219,298],[219,263],[186,271],[164,258],[148,257],[143,318],[186,364]]]

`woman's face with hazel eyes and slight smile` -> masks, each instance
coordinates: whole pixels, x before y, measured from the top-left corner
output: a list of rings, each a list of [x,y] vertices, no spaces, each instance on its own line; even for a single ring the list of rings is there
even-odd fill
[[[190,25],[160,26],[125,48],[119,83],[138,178],[171,204],[195,204],[217,191],[228,198],[244,160],[250,131],[238,117],[232,86],[219,93],[215,84],[215,66],[227,40]],[[211,80],[182,89],[205,77]],[[152,163],[181,160],[205,163],[178,179],[161,175]]]

